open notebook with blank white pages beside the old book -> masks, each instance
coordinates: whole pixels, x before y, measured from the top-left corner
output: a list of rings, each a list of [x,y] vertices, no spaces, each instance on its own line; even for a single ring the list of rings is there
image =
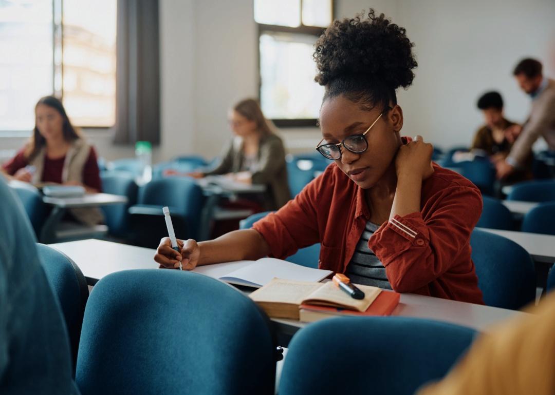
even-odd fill
[[[215,265],[197,266],[193,271],[225,281],[226,283],[260,288],[274,277],[287,280],[321,281],[331,270],[306,268],[305,266],[275,258],[241,260]]]

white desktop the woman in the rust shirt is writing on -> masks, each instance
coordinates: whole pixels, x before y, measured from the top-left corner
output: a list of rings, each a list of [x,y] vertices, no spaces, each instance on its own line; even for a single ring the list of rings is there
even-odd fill
[[[94,284],[105,275],[116,271],[158,267],[153,260],[154,250],[150,248],[94,239],[57,243],[51,246],[75,261],[87,277],[89,284]],[[448,321],[479,331],[516,314],[524,313],[413,294],[402,294],[400,305],[393,311],[393,315]],[[292,336],[306,325],[292,320],[274,319],[273,321],[280,333],[286,336]]]

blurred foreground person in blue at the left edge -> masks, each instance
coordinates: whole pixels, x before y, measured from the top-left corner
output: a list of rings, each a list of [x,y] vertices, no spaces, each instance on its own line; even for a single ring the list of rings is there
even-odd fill
[[[78,394],[62,313],[21,203],[0,176],[0,393]]]

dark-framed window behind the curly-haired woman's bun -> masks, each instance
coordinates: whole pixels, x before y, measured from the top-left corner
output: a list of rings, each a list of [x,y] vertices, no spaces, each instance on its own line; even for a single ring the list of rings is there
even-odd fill
[[[277,126],[315,126],[324,87],[314,82],[316,39],[333,20],[331,0],[255,0],[260,105]]]

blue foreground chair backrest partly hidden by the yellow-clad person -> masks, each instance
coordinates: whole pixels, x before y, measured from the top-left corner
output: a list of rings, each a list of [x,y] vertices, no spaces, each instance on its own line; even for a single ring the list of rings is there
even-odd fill
[[[413,394],[448,372],[476,332],[409,317],[341,317],[301,329],[289,343],[280,395]]]

